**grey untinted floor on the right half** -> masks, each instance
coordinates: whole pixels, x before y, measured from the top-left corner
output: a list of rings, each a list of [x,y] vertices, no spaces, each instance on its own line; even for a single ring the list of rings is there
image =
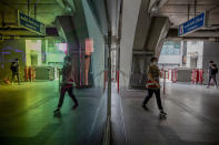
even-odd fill
[[[159,117],[152,97],[149,111],[141,107],[147,91],[120,93],[123,128],[115,125],[115,145],[218,145],[219,90],[168,83],[162,103],[167,118]],[[118,100],[119,96],[115,100]],[[121,118],[121,117],[120,117]],[[122,123],[121,123],[122,124]],[[117,131],[120,130],[120,131]]]

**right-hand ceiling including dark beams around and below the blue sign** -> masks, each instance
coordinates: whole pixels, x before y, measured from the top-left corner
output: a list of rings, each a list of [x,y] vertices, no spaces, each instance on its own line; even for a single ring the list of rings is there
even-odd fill
[[[157,14],[169,18],[169,35],[177,38],[179,24],[206,11],[209,11],[206,27],[182,38],[219,38],[219,0],[166,0]]]

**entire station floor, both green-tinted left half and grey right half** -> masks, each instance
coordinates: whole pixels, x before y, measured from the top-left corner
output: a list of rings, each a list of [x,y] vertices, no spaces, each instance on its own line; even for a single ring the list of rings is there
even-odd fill
[[[57,82],[24,83],[0,87],[0,144],[99,145],[106,123],[107,97],[102,91],[74,91],[79,107],[64,100],[53,116],[59,92]],[[162,103],[168,113],[159,117],[155,97],[141,107],[146,91],[117,94],[112,85],[113,145],[218,145],[219,90],[200,85],[167,85]],[[103,97],[101,97],[103,96]]]

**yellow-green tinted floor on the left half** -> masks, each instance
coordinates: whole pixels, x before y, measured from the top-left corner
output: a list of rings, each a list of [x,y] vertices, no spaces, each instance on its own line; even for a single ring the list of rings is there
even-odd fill
[[[0,144],[100,144],[106,118],[106,110],[98,110],[104,100],[102,92],[88,89],[74,93],[79,107],[72,111],[73,103],[66,95],[61,114],[53,116],[59,99],[57,82],[1,85]]]

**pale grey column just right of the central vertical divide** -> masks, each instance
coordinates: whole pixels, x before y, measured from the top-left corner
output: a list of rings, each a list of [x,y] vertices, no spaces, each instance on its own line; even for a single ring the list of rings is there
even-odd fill
[[[132,48],[141,0],[125,0],[120,42],[120,86],[128,89],[132,65]]]

